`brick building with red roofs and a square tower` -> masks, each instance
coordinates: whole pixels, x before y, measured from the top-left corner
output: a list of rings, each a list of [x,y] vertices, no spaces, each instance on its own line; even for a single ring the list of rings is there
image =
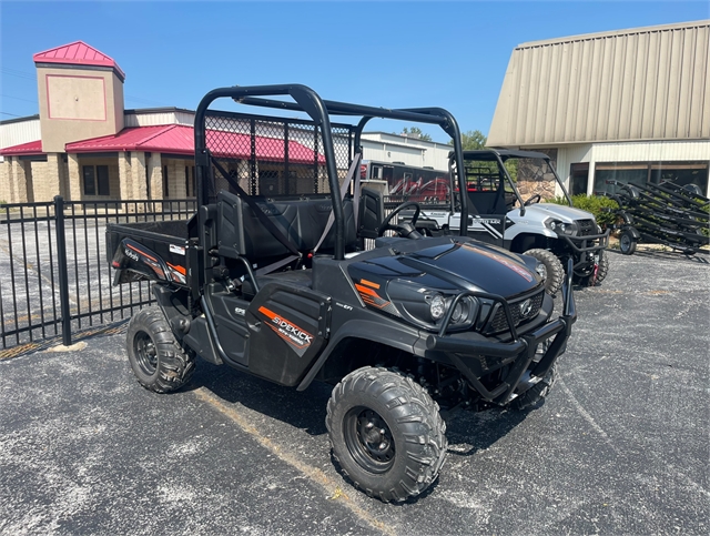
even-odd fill
[[[193,111],[125,110],[124,72],[112,58],[81,41],[39,52],[33,60],[40,113],[0,122],[0,200],[40,202],[57,194],[72,201],[194,196]],[[297,132],[292,136],[291,162],[296,168],[298,160],[304,166],[317,165],[323,156],[313,142]],[[282,140],[281,149],[274,146],[277,140],[257,136],[260,190],[274,181],[274,154],[284,151]],[[446,169],[450,150],[377,132],[363,135],[363,148],[365,159],[438,169]],[[247,158],[239,161],[237,155],[231,170],[240,180],[247,174]]]

